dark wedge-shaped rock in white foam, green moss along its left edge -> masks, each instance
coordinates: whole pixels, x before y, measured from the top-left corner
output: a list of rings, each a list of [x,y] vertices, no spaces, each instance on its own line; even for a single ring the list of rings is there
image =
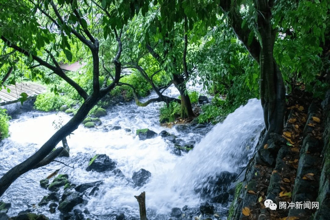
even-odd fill
[[[86,171],[95,170],[96,172],[112,171],[116,168],[116,162],[106,154],[96,154],[88,163]]]

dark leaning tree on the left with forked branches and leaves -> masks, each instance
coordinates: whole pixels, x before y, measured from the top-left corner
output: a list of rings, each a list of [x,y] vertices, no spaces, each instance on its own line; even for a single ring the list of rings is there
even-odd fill
[[[116,27],[113,30],[116,41],[118,43],[118,50],[114,57],[113,63],[115,66],[115,73],[113,81],[108,85],[105,81],[103,85],[99,82],[99,41],[93,37],[88,25],[92,21],[92,13],[96,13],[95,8],[106,8],[94,4],[87,4],[86,2],[73,1],[16,1],[12,0],[12,4],[1,5],[1,40],[4,43],[4,49],[9,49],[10,53],[20,53],[26,57],[26,64],[34,71],[39,66],[47,67],[72,87],[74,87],[84,102],[75,114],[75,116],[65,125],[63,125],[51,138],[32,156],[24,162],[16,165],[5,173],[0,178],[0,196],[6,191],[10,184],[15,181],[23,173],[31,169],[44,166],[49,163],[49,157],[56,157],[61,149],[56,150],[49,157],[49,153],[63,140],[66,136],[71,134],[78,128],[79,124],[88,114],[89,110],[104,97],[110,90],[112,90],[119,82],[121,73],[121,63],[119,58],[121,55],[121,31],[117,33]],[[110,7],[110,5],[109,5]],[[113,6],[114,7],[114,6]],[[98,14],[100,19],[102,14]],[[117,15],[117,14],[116,14]],[[105,16],[110,16],[106,14]],[[128,19],[128,16],[126,16]],[[109,18],[108,18],[109,19]],[[18,22],[17,22],[18,21]],[[121,20],[121,22],[123,22]],[[43,25],[41,25],[42,23]],[[108,24],[104,25],[107,34],[110,31]],[[69,62],[73,59],[71,53],[72,44],[81,42],[90,50],[93,59],[93,92],[87,94],[82,87],[74,80],[70,79],[59,67],[56,57],[59,56],[59,51],[63,51]],[[42,55],[47,54],[46,59],[42,59]],[[35,63],[37,63],[35,65]],[[110,73],[109,73],[110,74]]]

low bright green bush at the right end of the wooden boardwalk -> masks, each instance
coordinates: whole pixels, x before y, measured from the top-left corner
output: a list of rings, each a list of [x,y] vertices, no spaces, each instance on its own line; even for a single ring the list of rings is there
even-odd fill
[[[58,111],[62,105],[73,105],[74,102],[61,95],[55,95],[53,92],[45,92],[38,95],[34,102],[34,108],[40,111]]]

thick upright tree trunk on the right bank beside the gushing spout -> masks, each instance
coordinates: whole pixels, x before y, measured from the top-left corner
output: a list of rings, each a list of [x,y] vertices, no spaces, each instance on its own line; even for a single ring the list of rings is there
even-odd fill
[[[262,48],[260,50],[260,99],[264,112],[267,129],[260,148],[267,143],[270,133],[281,134],[283,130],[285,88],[281,71],[274,57],[275,31],[271,23],[271,5],[265,1],[258,4],[258,30],[261,35]]]

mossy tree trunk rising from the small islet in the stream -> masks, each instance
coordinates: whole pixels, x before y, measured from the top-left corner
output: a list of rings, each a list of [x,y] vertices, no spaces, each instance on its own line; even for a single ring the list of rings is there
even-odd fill
[[[195,114],[191,107],[191,102],[183,78],[178,75],[173,75],[173,84],[179,90],[181,96],[181,117],[182,118],[194,118]]]

